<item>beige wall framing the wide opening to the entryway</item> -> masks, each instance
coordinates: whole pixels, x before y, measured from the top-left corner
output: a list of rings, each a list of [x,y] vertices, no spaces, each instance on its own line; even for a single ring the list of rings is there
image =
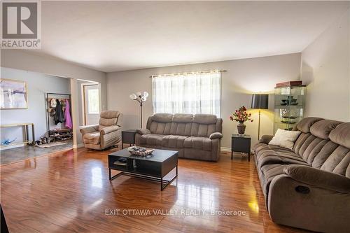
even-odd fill
[[[74,145],[83,143],[79,132],[78,79],[101,83],[102,110],[106,109],[106,73],[64,62],[60,59],[36,55],[23,50],[1,50],[1,67],[45,73],[52,76],[71,78],[72,118]]]

